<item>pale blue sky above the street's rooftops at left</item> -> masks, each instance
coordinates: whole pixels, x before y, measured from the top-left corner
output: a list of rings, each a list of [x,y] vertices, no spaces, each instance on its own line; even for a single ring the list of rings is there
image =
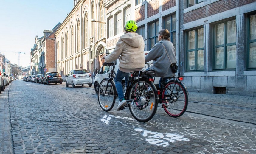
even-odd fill
[[[30,65],[35,37],[44,36],[62,23],[73,9],[73,0],[0,0],[0,52],[12,64]],[[15,53],[16,52],[16,53]]]

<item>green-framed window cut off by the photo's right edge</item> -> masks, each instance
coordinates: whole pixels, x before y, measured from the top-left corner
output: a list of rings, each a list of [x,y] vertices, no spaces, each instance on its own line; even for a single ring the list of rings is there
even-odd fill
[[[256,70],[256,14],[248,15],[247,70]]]

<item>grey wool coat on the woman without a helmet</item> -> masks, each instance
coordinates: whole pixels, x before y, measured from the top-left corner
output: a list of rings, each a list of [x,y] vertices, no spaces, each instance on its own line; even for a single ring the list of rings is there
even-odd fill
[[[149,69],[156,70],[156,77],[174,77],[175,73],[172,72],[170,66],[172,63],[177,63],[175,57],[175,48],[173,43],[168,40],[162,40],[162,43],[156,43],[153,48],[150,50],[148,55],[145,57],[145,63],[153,60],[153,66],[150,66]],[[165,48],[164,48],[164,46]],[[167,53],[171,59],[171,62],[167,56]]]

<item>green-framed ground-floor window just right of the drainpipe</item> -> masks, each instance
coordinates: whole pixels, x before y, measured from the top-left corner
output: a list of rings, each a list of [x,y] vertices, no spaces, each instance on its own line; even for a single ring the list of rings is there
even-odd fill
[[[186,71],[204,70],[204,28],[198,27],[186,33]]]

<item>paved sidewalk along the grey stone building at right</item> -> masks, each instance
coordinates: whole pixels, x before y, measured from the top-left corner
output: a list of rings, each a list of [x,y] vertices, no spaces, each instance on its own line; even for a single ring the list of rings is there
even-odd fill
[[[256,97],[189,92],[187,112],[256,125]]]

